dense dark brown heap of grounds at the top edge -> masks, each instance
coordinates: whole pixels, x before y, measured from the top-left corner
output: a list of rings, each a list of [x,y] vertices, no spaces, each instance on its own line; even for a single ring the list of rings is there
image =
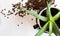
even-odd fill
[[[44,7],[46,7],[46,1],[45,0],[28,0],[26,3],[27,9],[33,9],[33,10],[40,10]]]

